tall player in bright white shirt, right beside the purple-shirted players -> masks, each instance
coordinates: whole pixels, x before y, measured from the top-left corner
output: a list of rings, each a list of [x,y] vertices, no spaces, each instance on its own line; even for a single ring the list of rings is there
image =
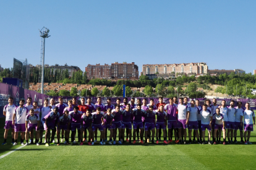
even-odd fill
[[[187,106],[184,105],[183,99],[179,98],[179,105],[177,106],[178,115],[177,115],[177,128],[179,131],[179,142],[178,144],[183,143],[181,139],[181,131],[184,133],[184,144],[186,144],[187,139]]]

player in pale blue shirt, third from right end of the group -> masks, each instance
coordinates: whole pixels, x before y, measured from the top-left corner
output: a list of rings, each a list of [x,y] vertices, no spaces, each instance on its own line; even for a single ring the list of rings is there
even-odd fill
[[[231,100],[230,107],[228,107],[228,144],[233,143],[233,132],[235,129],[235,114],[236,108],[234,108],[234,100]],[[231,140],[230,140],[230,133],[231,133]]]

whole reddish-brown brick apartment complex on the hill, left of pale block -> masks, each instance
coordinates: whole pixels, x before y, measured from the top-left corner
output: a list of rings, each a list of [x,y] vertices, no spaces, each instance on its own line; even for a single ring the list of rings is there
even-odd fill
[[[111,65],[105,63],[105,65],[90,65],[88,64],[85,67],[85,71],[87,72],[87,78],[117,78],[117,79],[129,79],[129,78],[137,78],[139,79],[139,71],[138,66],[132,63],[118,63],[114,62]]]

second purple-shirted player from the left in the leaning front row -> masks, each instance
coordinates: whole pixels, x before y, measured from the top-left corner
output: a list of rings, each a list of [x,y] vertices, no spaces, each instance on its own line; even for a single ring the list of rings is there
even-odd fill
[[[65,110],[64,115],[59,116],[58,118],[58,131],[57,131],[57,139],[58,139],[58,144],[59,145],[59,138],[61,136],[61,130],[62,132],[65,132],[65,142],[64,144],[69,145],[69,127],[70,127],[70,121],[71,121],[71,116],[69,116],[69,111]]]

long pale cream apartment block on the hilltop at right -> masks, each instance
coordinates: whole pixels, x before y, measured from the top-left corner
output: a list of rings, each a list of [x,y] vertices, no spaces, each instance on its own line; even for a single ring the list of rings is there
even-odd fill
[[[196,73],[207,74],[207,63],[179,63],[179,64],[155,64],[155,65],[142,65],[141,75],[149,74],[165,74],[165,73]]]

